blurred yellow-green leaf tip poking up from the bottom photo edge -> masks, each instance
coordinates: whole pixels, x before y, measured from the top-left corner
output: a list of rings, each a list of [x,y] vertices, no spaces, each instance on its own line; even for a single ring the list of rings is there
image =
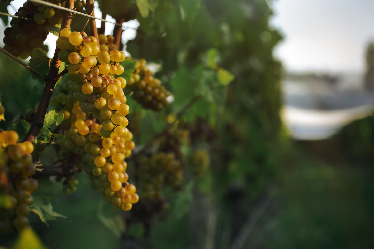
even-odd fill
[[[11,249],[48,249],[31,228],[19,231],[19,237]]]

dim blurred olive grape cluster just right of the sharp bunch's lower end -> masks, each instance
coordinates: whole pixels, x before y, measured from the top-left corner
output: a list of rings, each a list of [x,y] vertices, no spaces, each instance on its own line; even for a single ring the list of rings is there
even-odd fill
[[[174,153],[159,152],[141,160],[141,192],[150,200],[162,200],[162,188],[180,189],[183,183],[183,167]],[[147,173],[145,173],[147,172]]]

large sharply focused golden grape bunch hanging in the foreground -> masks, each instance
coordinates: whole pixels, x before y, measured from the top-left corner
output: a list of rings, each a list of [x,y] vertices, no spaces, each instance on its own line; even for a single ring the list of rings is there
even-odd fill
[[[82,157],[77,168],[83,166],[93,189],[106,202],[114,209],[130,210],[139,196],[136,187],[128,183],[125,158],[131,155],[135,144],[126,128],[129,113],[123,93],[126,80],[114,78],[123,72],[119,62],[125,60],[125,53],[99,52],[95,37],[69,29],[60,31],[56,43],[62,49],[59,59],[68,62],[71,79],[71,89],[63,85],[65,92],[58,93],[52,103],[69,116],[62,124],[65,136],[57,144],[63,151],[73,151]]]

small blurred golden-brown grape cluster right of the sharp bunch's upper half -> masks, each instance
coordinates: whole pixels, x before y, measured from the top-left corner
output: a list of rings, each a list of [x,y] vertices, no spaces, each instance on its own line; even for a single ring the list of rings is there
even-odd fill
[[[159,79],[152,76],[152,72],[146,65],[147,61],[145,59],[140,59],[136,62],[135,69],[128,82],[127,91],[132,91],[131,97],[144,108],[162,111],[163,108],[169,105],[166,98],[170,96],[170,93],[161,85]]]

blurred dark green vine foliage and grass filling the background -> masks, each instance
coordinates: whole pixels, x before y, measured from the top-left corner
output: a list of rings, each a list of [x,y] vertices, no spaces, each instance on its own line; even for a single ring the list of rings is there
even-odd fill
[[[116,18],[126,9],[138,19],[137,36],[126,50],[159,63],[156,77],[174,96],[160,113],[128,98],[131,112],[141,113],[135,143],[150,141],[169,113],[199,96],[183,119],[209,125],[215,137],[183,152],[187,158],[192,149],[208,150],[210,168],[201,179],[188,178],[181,192],[165,190],[169,209],[153,218],[145,238],[140,223],[126,225],[123,213],[105,206],[85,174],[78,175],[77,192],[68,196],[60,184],[44,179],[36,199],[51,202],[53,211],[67,217],[47,221],[47,227],[31,215],[45,245],[230,248],[244,236],[236,248],[373,247],[373,118],[356,121],[326,141],[289,140],[279,119],[282,67],[272,54],[282,35],[269,26],[270,2],[108,0],[108,14]],[[15,116],[35,108],[43,85],[0,56],[0,74],[6,75],[0,82],[6,121],[0,126],[6,129]],[[43,164],[56,160],[48,147],[43,153]],[[0,244],[9,246],[16,236],[1,236]]]

